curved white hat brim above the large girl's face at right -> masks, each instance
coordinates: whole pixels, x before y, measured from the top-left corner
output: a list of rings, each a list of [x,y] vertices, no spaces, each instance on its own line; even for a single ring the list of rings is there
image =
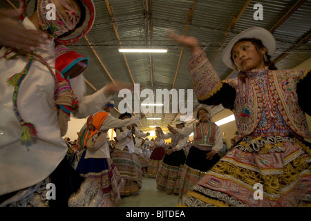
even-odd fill
[[[225,50],[223,50],[223,55],[221,57],[223,59],[223,63],[225,63],[227,67],[233,70],[235,70],[236,68],[234,68],[234,65],[232,64],[231,59],[232,48],[234,47],[237,41],[244,38],[260,39],[263,43],[263,46],[265,46],[265,48],[267,49],[267,55],[272,56],[275,52],[276,41],[271,32],[265,30],[265,28],[260,27],[248,28],[247,30],[241,32],[236,37],[234,37],[234,39],[232,39],[232,41],[230,41],[229,44],[227,44]]]

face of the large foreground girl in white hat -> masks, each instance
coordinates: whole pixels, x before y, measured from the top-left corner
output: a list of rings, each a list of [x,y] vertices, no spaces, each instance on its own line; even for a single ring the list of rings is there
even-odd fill
[[[238,70],[247,72],[248,70],[265,68],[263,55],[266,48],[256,48],[252,42],[240,41],[232,48],[232,59]]]

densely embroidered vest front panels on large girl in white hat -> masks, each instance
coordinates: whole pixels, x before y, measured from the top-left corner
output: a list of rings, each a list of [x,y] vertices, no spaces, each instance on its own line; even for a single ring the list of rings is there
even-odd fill
[[[268,91],[262,91],[260,82],[256,82],[256,77],[249,79],[249,87],[238,86],[238,79],[229,79],[226,82],[234,87],[238,93],[243,93],[244,101],[236,97],[234,104],[234,116],[236,117],[236,127],[242,133],[242,137],[254,131],[261,121],[263,108],[274,100],[276,108],[284,119],[285,124],[302,137],[311,137],[308,130],[308,123],[303,111],[298,104],[296,94],[296,84],[299,79],[308,73],[308,70],[269,70],[267,72]],[[243,90],[243,91],[241,91]],[[238,94],[237,93],[237,94]],[[265,99],[265,94],[269,93],[270,101]],[[269,115],[265,115],[269,117]],[[267,122],[270,119],[266,119]]]

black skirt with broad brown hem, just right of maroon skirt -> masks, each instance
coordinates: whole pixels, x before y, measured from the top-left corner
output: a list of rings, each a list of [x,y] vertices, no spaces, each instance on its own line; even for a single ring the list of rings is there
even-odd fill
[[[183,149],[170,155],[164,155],[156,175],[157,189],[165,191],[167,194],[178,194],[185,161],[186,155]]]

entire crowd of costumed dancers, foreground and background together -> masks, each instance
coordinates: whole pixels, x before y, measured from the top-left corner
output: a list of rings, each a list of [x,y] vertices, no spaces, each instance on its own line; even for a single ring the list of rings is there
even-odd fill
[[[118,206],[121,195],[141,189],[144,174],[155,177],[158,189],[178,193],[180,206],[311,206],[311,70],[277,70],[271,32],[247,28],[224,46],[224,66],[238,72],[224,80],[198,39],[167,32],[191,50],[189,74],[200,106],[196,122],[169,125],[167,134],[156,128],[147,162],[141,146],[147,141],[138,139],[149,135],[135,126],[145,115],[110,114],[109,100],[133,85],[113,81],[86,96],[88,57],[66,47],[93,27],[93,1],[57,1],[55,20],[46,17],[49,0],[21,2],[20,10],[0,10],[6,30],[0,35],[0,206]],[[209,109],[220,104],[234,113],[238,131],[222,157],[222,133]],[[71,114],[88,117],[77,138],[79,155],[62,138]],[[113,148],[106,139],[111,128]],[[57,186],[52,200],[50,184]],[[261,200],[254,186],[262,186]]]

